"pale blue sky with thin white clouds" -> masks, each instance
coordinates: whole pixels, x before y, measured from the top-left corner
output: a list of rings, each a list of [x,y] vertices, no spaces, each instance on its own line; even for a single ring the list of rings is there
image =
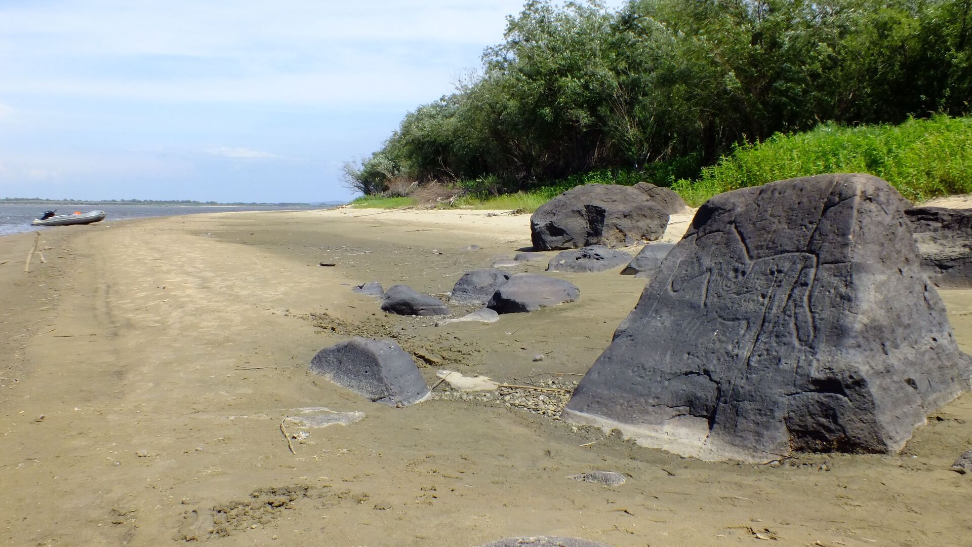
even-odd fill
[[[0,0],[0,198],[344,201],[523,0]]]

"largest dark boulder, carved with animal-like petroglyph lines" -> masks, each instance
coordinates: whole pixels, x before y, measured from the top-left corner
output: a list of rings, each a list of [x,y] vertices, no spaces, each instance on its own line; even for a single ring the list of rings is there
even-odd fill
[[[705,203],[564,416],[709,460],[894,453],[970,365],[900,195],[820,175]]]

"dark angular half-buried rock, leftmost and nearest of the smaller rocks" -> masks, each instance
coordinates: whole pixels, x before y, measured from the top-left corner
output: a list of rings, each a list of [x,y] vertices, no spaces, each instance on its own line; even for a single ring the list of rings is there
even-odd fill
[[[311,372],[391,406],[408,406],[429,396],[412,356],[394,340],[355,337],[318,351],[310,361]]]

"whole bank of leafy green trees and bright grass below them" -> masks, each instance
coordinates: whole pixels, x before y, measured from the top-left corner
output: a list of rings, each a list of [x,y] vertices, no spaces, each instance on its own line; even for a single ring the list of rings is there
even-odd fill
[[[972,191],[972,0],[528,2],[457,91],[344,165],[355,206],[530,211],[646,181],[699,205],[867,172]]]

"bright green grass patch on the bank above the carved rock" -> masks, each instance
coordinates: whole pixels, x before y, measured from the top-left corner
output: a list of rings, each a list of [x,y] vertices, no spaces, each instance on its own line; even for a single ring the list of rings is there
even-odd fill
[[[844,128],[825,124],[738,146],[702,176],[672,188],[689,204],[716,194],[798,176],[870,173],[909,200],[972,193],[972,117],[935,116],[898,126]]]

